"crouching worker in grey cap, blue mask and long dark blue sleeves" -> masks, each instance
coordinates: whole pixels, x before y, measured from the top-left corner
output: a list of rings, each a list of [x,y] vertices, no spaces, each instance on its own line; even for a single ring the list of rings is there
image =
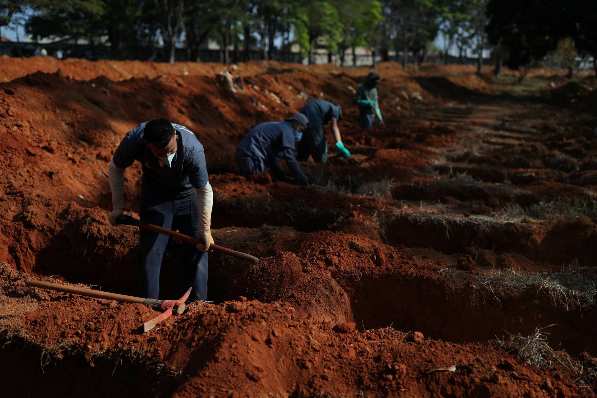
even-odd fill
[[[284,159],[297,184],[306,184],[307,177],[294,158],[294,147],[301,141],[307,124],[307,116],[296,113],[284,122],[265,122],[251,129],[236,147],[239,172],[257,174],[269,167],[279,180],[284,180],[286,173],[278,164]]]

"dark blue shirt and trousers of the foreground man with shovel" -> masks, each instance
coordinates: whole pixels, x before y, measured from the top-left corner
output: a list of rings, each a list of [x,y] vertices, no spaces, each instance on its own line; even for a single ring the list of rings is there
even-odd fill
[[[199,213],[195,188],[208,184],[203,146],[192,131],[173,123],[176,154],[171,168],[162,165],[143,140],[146,124],[143,122],[127,132],[114,153],[113,162],[122,169],[136,160],[141,163],[141,221],[196,236]],[[137,273],[141,297],[158,298],[159,271],[168,239],[167,235],[140,231]],[[192,287],[190,299],[207,300],[207,257],[207,252],[199,251],[192,243],[183,243],[180,295]]]

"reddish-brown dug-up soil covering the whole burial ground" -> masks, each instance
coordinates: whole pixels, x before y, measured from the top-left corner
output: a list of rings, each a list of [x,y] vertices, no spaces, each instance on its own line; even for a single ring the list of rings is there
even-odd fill
[[[571,363],[595,367],[593,304],[483,281],[495,270],[550,274],[574,260],[593,267],[597,226],[590,218],[483,221],[473,211],[592,200],[586,181],[595,149],[580,129],[558,132],[570,119],[553,118],[549,133],[533,130],[543,134],[536,147],[504,143],[494,151],[498,159],[479,152],[477,143],[477,152],[461,149],[481,135],[475,128],[501,125],[504,135],[499,119],[512,112],[510,105],[493,119],[438,113],[447,101],[442,96],[451,93],[498,99],[484,97],[498,90],[474,73],[445,76],[438,70],[454,68],[424,66],[414,75],[381,64],[381,109],[390,128],[365,132],[350,100],[368,69],[239,64],[232,72],[244,77],[245,89],[236,94],[216,86],[221,69],[0,58],[0,338],[10,343],[0,348],[0,363],[10,363],[0,366],[3,391],[592,396],[595,387],[579,387],[570,368],[527,366],[485,343],[504,330],[528,335],[557,323],[549,329],[550,343],[572,354]],[[340,129],[353,156],[326,165],[305,162],[317,180],[313,187],[233,174],[233,149],[245,132],[296,112],[305,102],[301,92],[340,101]],[[412,100],[417,92],[423,100]],[[537,112],[547,117],[551,111]],[[138,233],[107,223],[107,163],[125,131],[158,116],[187,125],[206,148],[216,243],[263,260],[246,264],[211,255],[215,303],[190,304],[143,334],[139,326],[156,314],[150,308],[27,288],[23,280],[136,294]],[[584,152],[570,149],[577,146]],[[562,148],[576,155],[559,156]],[[533,178],[530,166],[516,163],[521,154],[533,158]],[[454,164],[442,169],[441,159],[451,156]],[[458,167],[489,182],[438,183],[434,169]],[[136,215],[139,166],[126,177],[125,207]],[[182,294],[174,283],[179,248],[172,242],[164,261],[164,298]],[[452,365],[454,372],[433,372]]]

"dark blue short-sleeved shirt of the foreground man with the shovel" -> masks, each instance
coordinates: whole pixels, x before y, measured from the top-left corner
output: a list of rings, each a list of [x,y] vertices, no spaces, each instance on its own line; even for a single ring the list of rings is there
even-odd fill
[[[180,124],[172,124],[176,130],[176,154],[172,168],[162,165],[143,140],[147,122],[127,132],[114,153],[114,164],[127,168],[134,161],[141,163],[143,177],[141,189],[154,195],[173,198],[191,195],[195,188],[207,185],[207,167],[203,146],[192,131]]]

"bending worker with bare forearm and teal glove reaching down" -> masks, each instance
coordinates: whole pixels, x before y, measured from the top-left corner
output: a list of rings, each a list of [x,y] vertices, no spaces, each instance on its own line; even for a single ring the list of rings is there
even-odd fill
[[[306,161],[309,155],[317,163],[328,160],[328,141],[325,138],[324,126],[331,123],[331,129],[336,140],[336,147],[344,158],[349,158],[350,152],[344,147],[338,129],[338,121],[342,120],[340,104],[330,101],[312,100],[307,102],[300,113],[307,116],[310,126],[304,130],[303,139],[297,143],[297,160]]]

